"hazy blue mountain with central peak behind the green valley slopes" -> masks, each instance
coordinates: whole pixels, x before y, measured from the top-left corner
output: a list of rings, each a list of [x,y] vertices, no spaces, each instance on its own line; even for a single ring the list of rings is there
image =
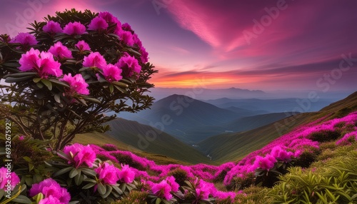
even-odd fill
[[[135,114],[119,114],[119,117],[152,126],[184,143],[195,144],[227,131],[248,131],[291,116],[288,112],[256,115],[260,112],[266,113],[243,108],[219,108],[188,96],[174,94],[156,101],[151,109]]]

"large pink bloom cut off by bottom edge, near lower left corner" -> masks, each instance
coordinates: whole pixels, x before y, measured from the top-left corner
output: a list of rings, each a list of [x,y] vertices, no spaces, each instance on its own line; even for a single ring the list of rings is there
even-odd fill
[[[32,185],[32,188],[29,190],[29,195],[34,197],[39,193],[42,193],[44,198],[49,198],[48,200],[51,202],[56,200],[54,198],[57,198],[59,202],[66,204],[69,203],[69,200],[71,200],[71,195],[68,193],[67,189],[61,188],[59,183],[57,183],[56,180],[53,180],[52,178],[47,178],[42,180],[40,183],[35,183]]]

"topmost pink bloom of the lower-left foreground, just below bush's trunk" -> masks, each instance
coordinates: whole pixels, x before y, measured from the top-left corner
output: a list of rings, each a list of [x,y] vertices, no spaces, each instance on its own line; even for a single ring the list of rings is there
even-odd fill
[[[93,167],[93,163],[96,160],[96,153],[89,145],[83,146],[79,143],[74,143],[71,146],[64,147],[64,153],[73,158],[70,163],[74,163],[76,168],[83,165],[83,163],[86,163],[89,167]]]

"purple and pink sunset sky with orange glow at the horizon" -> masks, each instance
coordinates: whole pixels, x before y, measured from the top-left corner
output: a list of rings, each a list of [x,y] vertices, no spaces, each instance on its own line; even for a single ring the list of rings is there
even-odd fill
[[[1,0],[0,33],[71,8],[131,24],[157,87],[357,91],[355,0]]]

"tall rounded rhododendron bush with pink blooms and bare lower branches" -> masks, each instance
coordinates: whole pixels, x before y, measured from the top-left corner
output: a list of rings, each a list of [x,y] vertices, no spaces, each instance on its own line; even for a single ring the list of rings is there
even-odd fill
[[[156,71],[129,24],[109,12],[57,12],[29,33],[0,35],[1,101],[25,136],[64,148],[77,133],[106,131],[109,111],[151,106]]]

